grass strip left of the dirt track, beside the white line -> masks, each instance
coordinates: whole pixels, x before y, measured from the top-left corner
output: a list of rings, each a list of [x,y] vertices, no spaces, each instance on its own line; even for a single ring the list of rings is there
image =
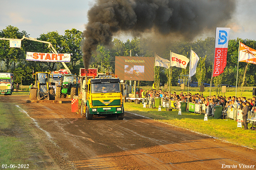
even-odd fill
[[[2,164],[29,164],[28,141],[25,136],[29,135],[30,120],[24,114],[20,114],[18,108],[13,107],[12,111],[4,103],[0,103],[0,162]],[[17,121],[18,120],[18,121]],[[1,164],[1,166],[2,166]]]

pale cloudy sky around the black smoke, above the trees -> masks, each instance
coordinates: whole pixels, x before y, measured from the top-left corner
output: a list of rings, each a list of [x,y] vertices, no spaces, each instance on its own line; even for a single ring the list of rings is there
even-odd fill
[[[221,1],[221,0],[220,0]],[[75,28],[83,31],[88,22],[87,12],[96,0],[0,0],[0,30],[6,26],[18,27],[32,38],[40,34]],[[238,0],[236,11],[225,27],[230,27],[229,39],[256,40],[256,0]],[[216,26],[219,27],[219,26]],[[215,37],[215,30],[195,37],[194,40]],[[130,35],[116,36],[124,42],[132,39]]]

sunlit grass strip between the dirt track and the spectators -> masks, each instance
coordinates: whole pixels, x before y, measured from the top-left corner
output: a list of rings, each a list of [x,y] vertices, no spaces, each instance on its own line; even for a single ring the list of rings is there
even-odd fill
[[[243,126],[242,128],[237,128],[237,122],[234,120],[216,120],[213,117],[208,117],[208,121],[204,121],[204,114],[182,112],[180,116],[178,111],[167,112],[165,108],[162,108],[162,111],[158,111],[158,108],[143,108],[142,104],[134,103],[124,103],[124,109],[127,112],[146,116],[173,126],[256,149],[256,131],[244,130]],[[250,127],[251,125],[248,124],[248,128]]]

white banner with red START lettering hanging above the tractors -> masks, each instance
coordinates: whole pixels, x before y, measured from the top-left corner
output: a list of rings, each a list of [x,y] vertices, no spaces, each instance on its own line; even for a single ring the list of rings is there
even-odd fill
[[[27,52],[26,60],[41,62],[70,62],[70,54]]]

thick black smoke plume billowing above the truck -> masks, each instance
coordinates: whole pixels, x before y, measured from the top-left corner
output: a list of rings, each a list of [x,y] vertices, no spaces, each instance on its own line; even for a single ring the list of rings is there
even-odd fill
[[[118,32],[175,34],[192,40],[225,26],[235,7],[235,0],[97,0],[83,32],[84,67],[97,45],[110,43]]]

